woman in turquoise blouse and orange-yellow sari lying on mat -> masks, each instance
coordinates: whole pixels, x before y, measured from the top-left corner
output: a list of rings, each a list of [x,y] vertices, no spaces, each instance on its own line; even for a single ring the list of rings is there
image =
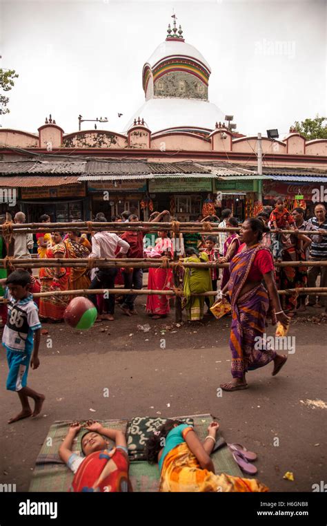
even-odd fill
[[[159,491],[268,491],[254,478],[215,475],[210,453],[215,448],[217,422],[208,426],[208,436],[200,442],[197,433],[178,420],[167,420],[148,440],[146,458],[158,462]]]

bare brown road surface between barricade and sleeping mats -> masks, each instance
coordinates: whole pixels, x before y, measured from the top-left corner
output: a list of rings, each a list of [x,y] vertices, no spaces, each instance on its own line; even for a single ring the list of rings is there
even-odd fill
[[[117,308],[115,321],[96,323],[86,332],[63,323],[43,325],[48,335],[41,337],[41,365],[29,373],[29,385],[46,395],[35,420],[7,424],[19,404],[5,388],[3,350],[0,483],[28,491],[55,420],[196,413],[215,415],[228,442],[257,453],[257,478],[270,491],[312,491],[326,479],[327,323],[319,322],[320,310],[307,310],[292,324],[295,353],[279,375],[271,376],[269,364],[248,374],[248,390],[217,396],[219,384],[230,379],[230,318],[177,327],[173,311],[168,319],[150,319],[145,302],[145,297],[137,300],[138,316],[126,317]],[[148,332],[137,328],[146,323]],[[109,397],[103,396],[106,388]],[[294,473],[294,482],[283,479],[286,471]]]

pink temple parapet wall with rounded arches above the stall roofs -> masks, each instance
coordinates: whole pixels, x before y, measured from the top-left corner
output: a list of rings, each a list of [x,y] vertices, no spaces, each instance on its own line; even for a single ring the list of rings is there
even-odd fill
[[[221,132],[215,130],[209,137],[202,137],[192,133],[162,133],[151,137],[150,131],[144,126],[132,127],[128,135],[113,131],[88,130],[63,135],[62,129],[57,124],[46,124],[39,128],[39,135],[26,131],[0,129],[0,143],[2,147],[20,147],[46,149],[47,143],[52,143],[52,148],[103,148],[103,149],[153,149],[158,151],[158,158],[164,157],[166,150],[190,152],[257,152],[257,138],[238,138],[230,140],[221,138]],[[283,141],[262,138],[262,151],[273,156],[279,154],[290,156],[327,156],[327,140],[306,141],[298,133],[290,133]],[[162,151],[162,156],[159,151]],[[192,154],[190,154],[192,155]],[[187,156],[186,156],[187,158]],[[301,166],[306,165],[305,160]],[[278,162],[275,160],[275,162]],[[308,160],[310,165],[310,161]],[[294,165],[294,162],[292,162]],[[296,162],[295,162],[296,165]],[[311,163],[312,165],[312,163]]]

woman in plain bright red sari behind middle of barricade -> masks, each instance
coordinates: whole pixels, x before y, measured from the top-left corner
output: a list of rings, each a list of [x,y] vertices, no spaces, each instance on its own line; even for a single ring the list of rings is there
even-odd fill
[[[155,248],[146,251],[147,257],[172,258],[174,251],[172,241],[168,238],[167,230],[158,232]],[[170,290],[172,288],[172,269],[171,268],[149,268],[148,290]],[[169,297],[166,295],[148,296],[146,300],[146,312],[152,315],[152,319],[166,318],[170,312]]]

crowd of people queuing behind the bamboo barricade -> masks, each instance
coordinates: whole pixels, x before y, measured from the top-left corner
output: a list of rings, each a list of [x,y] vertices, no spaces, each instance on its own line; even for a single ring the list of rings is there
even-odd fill
[[[121,216],[110,218],[117,222],[135,223],[139,221],[136,214],[125,211]],[[167,210],[154,212],[149,221],[161,222],[170,220]],[[263,209],[257,215],[257,220],[264,227],[260,244],[268,249],[272,261],[326,261],[327,260],[327,230],[326,207],[324,204],[315,206],[315,216],[304,220],[304,209],[296,207],[292,211],[286,209],[284,199],[278,198],[275,209],[271,212]],[[98,223],[106,222],[103,213],[95,216]],[[200,221],[200,219],[199,219]],[[221,220],[217,216],[201,218],[201,221],[215,223],[218,227],[238,227],[237,218],[232,217],[230,209],[224,209]],[[26,217],[23,212],[17,212],[14,216],[15,223],[25,223]],[[41,223],[50,223],[50,216],[43,215]],[[282,234],[282,229],[294,230],[294,234]],[[306,232],[316,231],[317,235],[306,235]],[[300,234],[301,232],[301,234]],[[126,289],[141,290],[143,288],[143,270],[133,267],[134,259],[172,259],[176,256],[181,261],[201,263],[205,261],[216,261],[218,263],[230,263],[235,256],[242,251],[241,236],[236,232],[219,232],[217,236],[211,234],[186,233],[177,238],[171,238],[170,232],[159,229],[157,233],[145,231],[128,230],[120,236],[106,231],[90,234],[81,234],[77,230],[63,232],[47,232],[36,234],[37,252],[39,258],[46,259],[80,259],[80,258],[110,258],[121,257],[130,259],[131,263],[121,269],[117,268],[92,268],[86,264],[83,267],[41,267],[38,275],[32,276],[32,292],[50,292],[51,290],[85,290],[85,289],[113,289],[120,285]],[[14,234],[14,258],[29,258],[33,246],[32,234]],[[6,241],[0,238],[0,256],[6,256]],[[183,306],[189,321],[201,321],[206,315],[210,315],[210,306],[213,296],[196,297],[192,294],[215,290],[225,290],[230,281],[230,268],[219,269],[211,267],[186,268],[181,270],[180,283],[183,286]],[[6,276],[6,270],[1,270],[1,276]],[[313,265],[275,267],[274,281],[277,290],[315,287],[317,278],[320,278],[320,287],[327,286],[327,267]],[[145,286],[145,285],[144,285]],[[150,268],[148,271],[148,289],[172,290],[175,287],[172,270],[169,267]],[[3,290],[1,290],[3,294]],[[121,312],[126,316],[137,314],[135,299],[137,294],[114,295],[108,294],[103,297],[99,294],[88,296],[98,311],[98,321],[102,319],[113,321],[115,307],[117,304]],[[37,301],[39,315],[43,321],[50,323],[63,320],[70,297],[48,296]],[[170,313],[170,303],[174,301],[164,294],[149,294],[146,302],[146,312],[153,318],[167,317]],[[317,303],[316,303],[317,301]],[[208,312],[204,312],[205,305]],[[293,317],[297,311],[301,312],[311,306],[326,308],[326,296],[317,294],[308,297],[305,292],[300,294],[288,294],[281,296],[281,307],[288,317]],[[6,312],[1,307],[3,322],[6,322]]]

